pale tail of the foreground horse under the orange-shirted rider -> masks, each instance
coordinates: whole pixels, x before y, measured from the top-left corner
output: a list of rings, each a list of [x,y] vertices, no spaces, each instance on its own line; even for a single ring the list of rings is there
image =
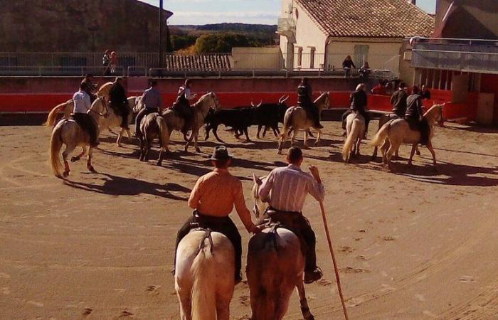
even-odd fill
[[[203,249],[192,263],[194,284],[192,286],[192,320],[216,319],[216,277],[209,260],[213,257]],[[232,274],[230,274],[232,276]]]

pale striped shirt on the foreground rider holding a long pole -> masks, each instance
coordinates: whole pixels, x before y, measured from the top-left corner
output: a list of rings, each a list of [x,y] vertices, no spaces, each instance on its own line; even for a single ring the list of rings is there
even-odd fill
[[[323,201],[325,188],[294,164],[273,169],[260,186],[260,198],[275,210],[301,212],[308,193]]]

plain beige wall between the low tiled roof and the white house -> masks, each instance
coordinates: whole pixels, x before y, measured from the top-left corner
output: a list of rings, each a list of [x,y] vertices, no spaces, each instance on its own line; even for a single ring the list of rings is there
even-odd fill
[[[263,48],[232,48],[232,68],[244,69],[270,69],[284,68],[284,60],[279,46]]]

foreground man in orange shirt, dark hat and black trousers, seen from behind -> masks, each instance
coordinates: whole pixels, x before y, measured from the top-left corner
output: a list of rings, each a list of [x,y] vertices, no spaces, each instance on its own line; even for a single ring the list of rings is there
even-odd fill
[[[258,233],[260,230],[250,218],[250,212],[245,206],[242,183],[228,171],[232,156],[225,146],[217,146],[211,162],[215,169],[198,178],[189,198],[189,206],[194,209],[193,215],[181,227],[176,238],[176,249],[190,230],[208,228],[223,233],[231,240],[235,249],[235,284],[242,280],[242,240],[237,227],[228,216],[235,206],[238,216],[249,233]],[[175,261],[176,263],[176,261]]]

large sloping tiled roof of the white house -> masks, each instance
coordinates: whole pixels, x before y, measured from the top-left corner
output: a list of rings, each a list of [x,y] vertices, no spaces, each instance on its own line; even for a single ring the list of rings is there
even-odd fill
[[[430,36],[434,18],[407,0],[297,0],[330,36]]]

